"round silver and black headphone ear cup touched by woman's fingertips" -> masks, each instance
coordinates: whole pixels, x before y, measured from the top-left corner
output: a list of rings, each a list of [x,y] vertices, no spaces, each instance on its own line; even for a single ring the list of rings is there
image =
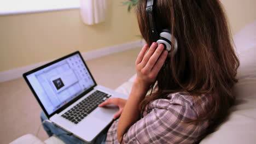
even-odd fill
[[[160,38],[159,38],[159,40],[158,41],[156,41],[156,43],[158,43],[158,44],[164,44],[164,45],[166,45],[166,50],[167,51],[171,51],[171,49],[172,49],[172,44],[174,45],[174,50],[173,50],[173,52],[174,52],[174,54],[177,52],[177,50],[178,50],[178,43],[177,43],[177,39],[175,38],[175,37],[173,37],[174,38],[174,40],[173,41],[171,41],[172,40],[172,35],[171,35],[171,33],[170,32],[168,32],[168,31],[166,31],[166,30],[164,30],[164,32],[161,32],[160,34],[159,34],[159,36],[160,36]]]

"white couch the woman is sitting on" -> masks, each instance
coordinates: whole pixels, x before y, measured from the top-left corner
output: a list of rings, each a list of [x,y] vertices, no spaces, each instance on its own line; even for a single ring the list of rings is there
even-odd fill
[[[256,21],[250,23],[234,36],[237,55],[240,59],[238,83],[234,86],[236,104],[231,107],[231,114],[218,129],[205,137],[200,143],[256,143]],[[116,90],[129,95],[133,76]],[[44,142],[28,134],[11,142],[15,143],[57,143],[60,139],[51,136]]]

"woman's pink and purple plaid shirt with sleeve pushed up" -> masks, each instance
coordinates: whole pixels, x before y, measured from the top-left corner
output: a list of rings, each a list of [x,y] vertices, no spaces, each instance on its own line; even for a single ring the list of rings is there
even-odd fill
[[[194,99],[188,93],[168,95],[170,99],[157,99],[149,103],[143,118],[133,124],[124,135],[124,143],[194,143],[200,140],[208,121],[197,124],[182,123],[196,118]],[[206,96],[199,97],[203,109],[208,103]],[[106,144],[119,143],[117,125],[113,122],[107,133]]]

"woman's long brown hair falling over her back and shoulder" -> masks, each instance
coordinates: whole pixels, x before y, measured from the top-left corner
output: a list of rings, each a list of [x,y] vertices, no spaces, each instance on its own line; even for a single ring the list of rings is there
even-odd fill
[[[151,45],[145,9],[146,0],[139,0],[139,29]],[[156,79],[158,89],[142,101],[141,112],[150,101],[170,93],[188,92],[196,104],[200,104],[197,96],[205,94],[211,105],[191,122],[209,120],[217,125],[234,103],[231,88],[239,66],[222,4],[218,0],[155,0],[154,17],[158,32],[170,29],[177,38],[178,51],[167,57]]]

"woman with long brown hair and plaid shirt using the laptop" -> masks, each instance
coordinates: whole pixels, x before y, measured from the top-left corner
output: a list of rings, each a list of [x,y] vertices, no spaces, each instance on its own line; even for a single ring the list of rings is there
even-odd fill
[[[137,5],[147,45],[136,59],[132,91],[128,100],[110,98],[99,105],[118,105],[114,118],[120,118],[96,143],[199,142],[224,120],[235,100],[231,88],[239,62],[222,5],[218,0],[154,1],[156,29],[169,29],[177,39],[176,53],[155,43],[146,5],[146,0]]]

